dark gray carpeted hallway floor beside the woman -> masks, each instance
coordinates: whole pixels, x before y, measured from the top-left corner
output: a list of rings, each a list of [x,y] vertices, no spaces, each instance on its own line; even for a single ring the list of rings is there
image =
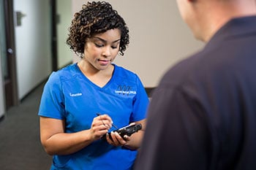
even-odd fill
[[[0,121],[0,169],[48,170],[51,157],[39,140],[39,100],[42,87],[29,93],[18,107],[12,107]]]

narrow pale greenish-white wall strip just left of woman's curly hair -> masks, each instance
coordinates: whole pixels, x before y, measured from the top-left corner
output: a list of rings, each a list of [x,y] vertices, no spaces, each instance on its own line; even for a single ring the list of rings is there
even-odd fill
[[[59,15],[59,23],[57,23],[57,50],[58,50],[58,69],[66,66],[68,63],[72,62],[72,51],[66,44],[68,28],[72,20],[72,9],[71,0],[57,0],[57,13]]]

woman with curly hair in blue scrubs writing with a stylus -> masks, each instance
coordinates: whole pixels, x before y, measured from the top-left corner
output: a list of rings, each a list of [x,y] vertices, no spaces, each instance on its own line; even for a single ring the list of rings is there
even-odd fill
[[[113,63],[128,44],[127,25],[108,2],[88,2],[75,13],[67,45],[81,60],[50,75],[39,107],[51,169],[132,169],[148,96],[137,74]],[[113,132],[131,123],[142,129]]]

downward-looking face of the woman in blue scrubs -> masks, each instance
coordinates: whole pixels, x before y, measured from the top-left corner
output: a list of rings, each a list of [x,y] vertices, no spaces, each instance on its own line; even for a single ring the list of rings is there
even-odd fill
[[[86,39],[84,60],[94,69],[105,70],[116,58],[121,40],[118,28],[95,34]]]

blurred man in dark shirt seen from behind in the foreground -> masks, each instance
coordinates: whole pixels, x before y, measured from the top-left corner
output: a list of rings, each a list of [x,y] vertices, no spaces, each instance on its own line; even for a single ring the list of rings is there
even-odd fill
[[[256,1],[177,3],[206,46],[159,82],[135,169],[256,169]]]

